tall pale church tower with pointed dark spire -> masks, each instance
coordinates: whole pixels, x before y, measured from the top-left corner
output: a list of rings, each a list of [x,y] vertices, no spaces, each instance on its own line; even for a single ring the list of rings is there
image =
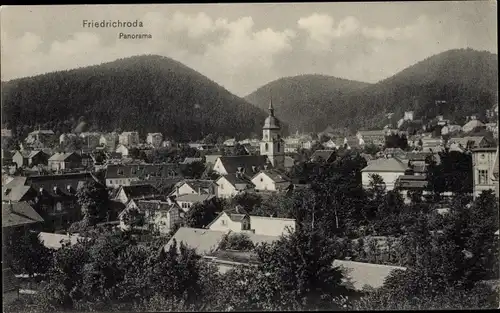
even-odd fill
[[[262,128],[262,141],[260,142],[260,155],[267,155],[273,168],[285,168],[285,144],[281,138],[281,123],[274,116],[273,99],[269,102],[269,116]]]

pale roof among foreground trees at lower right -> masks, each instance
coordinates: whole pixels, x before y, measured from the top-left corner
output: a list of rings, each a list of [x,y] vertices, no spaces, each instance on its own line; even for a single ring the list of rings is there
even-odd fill
[[[372,263],[362,263],[345,260],[333,261],[334,267],[340,267],[345,271],[344,285],[347,288],[354,290],[363,290],[363,287],[380,288],[385,282],[385,279],[394,270],[405,271],[405,267],[380,265]]]

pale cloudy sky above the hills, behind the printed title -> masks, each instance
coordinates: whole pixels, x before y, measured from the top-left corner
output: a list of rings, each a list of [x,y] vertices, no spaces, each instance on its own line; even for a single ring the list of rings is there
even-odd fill
[[[449,49],[497,53],[496,12],[496,1],[3,6],[1,79],[156,54],[238,96],[300,74],[373,83]]]

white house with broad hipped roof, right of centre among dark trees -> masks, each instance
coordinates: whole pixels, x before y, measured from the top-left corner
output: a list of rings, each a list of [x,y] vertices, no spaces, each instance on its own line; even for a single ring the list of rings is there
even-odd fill
[[[394,184],[399,176],[404,175],[408,165],[397,158],[380,158],[370,162],[361,170],[361,179],[364,188],[368,188],[371,176],[380,175],[384,180],[386,189],[394,189]]]

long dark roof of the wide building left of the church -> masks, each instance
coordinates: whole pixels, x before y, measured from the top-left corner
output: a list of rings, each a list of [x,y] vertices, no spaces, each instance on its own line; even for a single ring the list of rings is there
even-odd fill
[[[123,174],[118,174],[118,171]],[[179,176],[180,168],[175,163],[164,164],[109,164],[106,167],[106,178],[145,177],[145,176],[171,177]]]

